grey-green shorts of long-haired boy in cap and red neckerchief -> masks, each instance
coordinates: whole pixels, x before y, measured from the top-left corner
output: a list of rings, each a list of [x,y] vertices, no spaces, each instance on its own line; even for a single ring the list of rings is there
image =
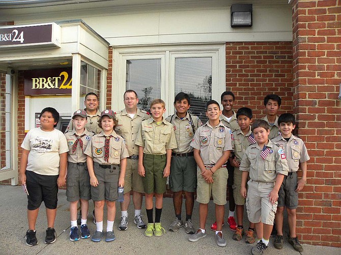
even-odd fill
[[[94,172],[98,180],[98,186],[91,186],[91,198],[94,201],[116,201],[118,199],[118,185],[120,168],[118,165],[109,165],[110,168],[102,168],[94,162]]]

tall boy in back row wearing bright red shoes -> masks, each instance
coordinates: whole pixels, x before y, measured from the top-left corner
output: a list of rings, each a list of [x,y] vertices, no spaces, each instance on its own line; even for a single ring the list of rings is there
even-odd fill
[[[235,111],[233,110],[233,105],[235,103],[235,94],[232,91],[224,91],[222,92],[220,96],[221,105],[222,105],[222,114],[220,115],[220,121],[233,132],[236,130],[239,130],[239,125],[237,122],[237,116]],[[235,199],[233,196],[233,172],[234,167],[231,166],[231,163],[228,161],[226,163],[226,168],[229,172],[229,179],[228,179],[228,188],[229,188],[229,216],[228,216],[228,224],[230,226],[230,230],[236,231],[237,230],[237,224],[235,220]],[[224,225],[224,221],[222,221],[222,225]],[[211,230],[216,231],[217,230],[217,222],[214,222],[211,225]]]

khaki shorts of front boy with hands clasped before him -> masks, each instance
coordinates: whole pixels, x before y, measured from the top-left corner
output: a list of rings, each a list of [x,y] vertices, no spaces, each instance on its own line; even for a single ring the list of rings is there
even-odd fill
[[[213,197],[213,202],[216,205],[226,204],[226,188],[228,185],[229,173],[224,168],[219,168],[213,174],[213,183],[207,183],[201,175],[201,169],[197,167],[197,189],[196,189],[196,201],[201,204],[208,204]]]

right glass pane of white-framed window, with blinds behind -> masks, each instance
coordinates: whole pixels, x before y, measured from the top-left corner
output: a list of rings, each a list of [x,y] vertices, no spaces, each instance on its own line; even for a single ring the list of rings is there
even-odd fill
[[[206,102],[212,99],[212,57],[175,59],[175,95],[179,92],[189,95],[189,112],[205,123]]]

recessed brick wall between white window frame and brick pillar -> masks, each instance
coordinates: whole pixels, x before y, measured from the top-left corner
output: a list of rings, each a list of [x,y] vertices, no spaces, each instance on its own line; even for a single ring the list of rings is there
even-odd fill
[[[226,90],[236,95],[234,108],[264,117],[264,97],[275,93],[282,99],[278,113],[292,112],[292,57],[291,42],[226,43]]]

